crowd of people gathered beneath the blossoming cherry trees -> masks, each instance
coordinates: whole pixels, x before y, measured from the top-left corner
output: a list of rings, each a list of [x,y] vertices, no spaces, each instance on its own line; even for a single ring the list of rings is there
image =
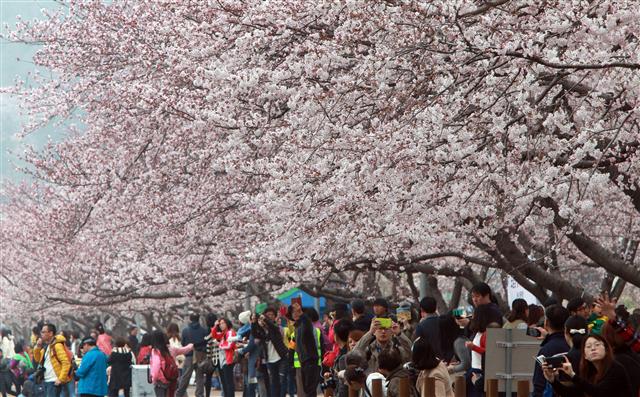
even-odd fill
[[[132,365],[147,364],[156,397],[185,397],[192,377],[196,397],[210,397],[218,384],[225,397],[237,389],[243,397],[326,390],[347,397],[349,388],[371,397],[376,379],[384,397],[398,397],[403,378],[411,397],[429,378],[437,397],[452,397],[456,375],[465,377],[467,396],[480,397],[491,359],[487,330],[508,328],[541,341],[533,397],[640,396],[640,313],[601,296],[544,307],[516,299],[505,316],[485,283],[473,286],[470,303],[438,313],[431,297],[416,307],[355,300],[334,304],[321,318],[294,299],[288,307],[242,312],[235,324],[214,313],[201,322],[193,313],[182,332],[170,324],[141,339],[135,326],[114,337],[97,324],[80,339],[45,323],[28,342],[2,329],[0,390],[2,397],[129,397]]]

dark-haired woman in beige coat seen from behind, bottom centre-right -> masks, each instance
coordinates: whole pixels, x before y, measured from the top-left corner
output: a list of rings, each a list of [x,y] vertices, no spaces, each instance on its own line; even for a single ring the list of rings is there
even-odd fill
[[[418,379],[416,381],[416,389],[422,394],[424,383],[427,378],[433,378],[435,380],[434,397],[453,397],[453,388],[451,387],[451,377],[445,363],[440,360],[431,343],[418,338],[413,342],[411,348],[411,366],[419,371]]]

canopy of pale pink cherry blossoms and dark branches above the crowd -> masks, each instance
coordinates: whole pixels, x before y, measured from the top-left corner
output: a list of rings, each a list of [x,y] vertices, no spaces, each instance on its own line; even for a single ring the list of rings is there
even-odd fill
[[[19,22],[53,72],[10,89],[24,133],[78,126],[6,188],[3,283],[41,285],[30,310],[371,270],[498,269],[541,300],[640,286],[635,8],[72,1]]]

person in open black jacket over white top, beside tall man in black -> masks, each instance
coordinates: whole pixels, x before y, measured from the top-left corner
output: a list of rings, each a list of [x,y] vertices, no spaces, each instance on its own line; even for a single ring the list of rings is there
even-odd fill
[[[282,339],[282,332],[276,323],[276,309],[268,307],[258,319],[258,324],[265,329],[267,371],[269,372],[270,396],[280,397],[282,387],[285,387],[286,366],[288,363],[288,349]]]

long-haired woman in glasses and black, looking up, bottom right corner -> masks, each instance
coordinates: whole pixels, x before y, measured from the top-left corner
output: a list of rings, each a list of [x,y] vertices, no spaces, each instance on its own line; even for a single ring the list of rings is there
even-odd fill
[[[570,379],[570,385],[560,381],[559,373]],[[636,397],[631,391],[625,368],[613,358],[613,349],[600,335],[589,335],[582,345],[580,375],[577,375],[569,359],[562,367],[551,368],[543,365],[542,373],[561,397]],[[578,394],[576,394],[578,393]]]

